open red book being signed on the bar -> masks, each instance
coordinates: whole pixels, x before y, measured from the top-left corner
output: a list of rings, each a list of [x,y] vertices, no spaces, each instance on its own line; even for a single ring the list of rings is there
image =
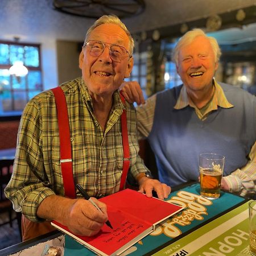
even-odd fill
[[[113,229],[104,225],[96,236],[85,237],[73,234],[57,221],[51,224],[98,255],[119,255],[154,231],[157,224],[182,209],[179,205],[148,198],[131,189],[103,197],[100,201],[108,207]]]

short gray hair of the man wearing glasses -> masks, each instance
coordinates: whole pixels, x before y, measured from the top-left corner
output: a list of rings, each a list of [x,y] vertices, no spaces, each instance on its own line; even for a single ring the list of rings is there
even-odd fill
[[[85,42],[89,38],[90,33],[94,30],[94,28],[96,28],[102,24],[116,24],[126,32],[126,35],[129,38],[130,55],[132,55],[133,48],[134,48],[134,40],[133,40],[129,30],[127,30],[127,27],[125,26],[125,24],[123,22],[121,22],[121,20],[116,15],[103,15],[99,19],[97,19],[96,22],[94,22],[94,24],[87,31],[86,36],[85,36]]]

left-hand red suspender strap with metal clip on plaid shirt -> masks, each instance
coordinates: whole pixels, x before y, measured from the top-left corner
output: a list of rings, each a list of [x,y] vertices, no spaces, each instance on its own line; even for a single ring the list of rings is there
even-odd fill
[[[52,89],[57,106],[57,118],[60,136],[60,165],[63,177],[65,196],[76,198],[76,189],[73,179],[72,147],[68,122],[68,108],[65,94],[60,86]]]

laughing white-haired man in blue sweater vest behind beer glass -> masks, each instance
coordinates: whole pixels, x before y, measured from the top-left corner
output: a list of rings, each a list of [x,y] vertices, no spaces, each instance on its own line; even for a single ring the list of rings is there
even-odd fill
[[[222,189],[255,196],[256,97],[214,80],[220,55],[216,39],[189,31],[173,55],[182,85],[146,102],[138,82],[123,83],[122,91],[139,105],[139,138],[150,143],[161,182],[197,180],[199,154],[215,152],[225,155]]]

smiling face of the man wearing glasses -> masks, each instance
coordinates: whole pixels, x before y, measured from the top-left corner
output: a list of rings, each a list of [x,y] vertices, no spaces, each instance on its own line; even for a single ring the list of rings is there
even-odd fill
[[[97,40],[109,44],[117,44],[129,49],[129,38],[117,24],[101,24],[90,33],[89,40]],[[113,61],[109,55],[109,47],[98,57],[90,55],[90,47],[82,49],[79,57],[79,67],[82,77],[93,96],[112,96],[119,88],[125,77],[130,76],[133,68],[133,57],[125,57],[120,62]]]

